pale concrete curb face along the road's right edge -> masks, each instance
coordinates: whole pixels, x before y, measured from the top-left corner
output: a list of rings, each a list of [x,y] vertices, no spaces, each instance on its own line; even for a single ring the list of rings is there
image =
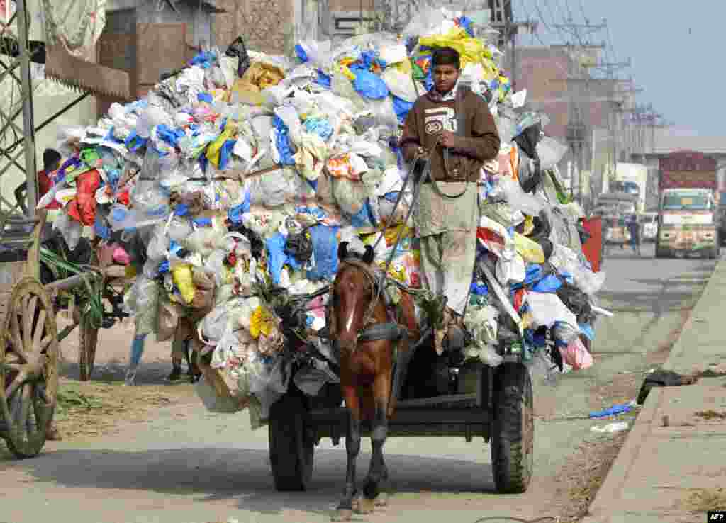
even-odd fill
[[[671,351],[668,355],[668,359],[663,364],[662,368],[666,370],[677,371],[675,361],[680,358],[680,355],[685,352],[685,344],[681,343],[683,334],[689,329],[693,328],[694,320],[700,316],[698,314],[698,305],[701,304],[704,295],[709,291],[711,284],[716,284],[714,276],[718,276],[719,273],[726,273],[726,263],[719,260],[714,267],[713,273],[709,277],[709,281],[706,287],[703,289],[701,297],[698,298],[698,302],[693,306],[692,312],[688,317],[688,320],[683,325],[681,334],[674,343]],[[723,284],[723,283],[722,283]],[[648,398],[645,399],[643,408],[638,413],[635,419],[635,424],[630,430],[623,447],[620,449],[618,456],[613,462],[608,475],[605,477],[603,485],[597,490],[595,499],[590,503],[590,507],[587,509],[587,515],[580,521],[580,523],[612,523],[613,522],[613,506],[615,506],[622,497],[622,491],[625,487],[627,477],[632,472],[632,467],[637,460],[640,448],[643,447],[645,438],[653,432],[654,423],[656,422],[656,413],[661,408],[663,401],[663,390],[661,387],[653,387],[650,389]]]

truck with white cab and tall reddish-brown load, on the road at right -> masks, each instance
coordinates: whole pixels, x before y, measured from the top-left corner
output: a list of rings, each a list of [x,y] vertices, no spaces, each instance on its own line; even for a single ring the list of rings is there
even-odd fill
[[[695,151],[662,157],[658,178],[656,258],[719,255],[717,162]]]

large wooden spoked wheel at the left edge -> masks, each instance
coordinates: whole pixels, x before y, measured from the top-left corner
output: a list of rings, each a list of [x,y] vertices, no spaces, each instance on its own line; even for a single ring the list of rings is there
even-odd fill
[[[17,458],[37,456],[45,444],[56,404],[57,365],[50,299],[38,281],[23,278],[12,291],[0,333],[0,435]]]

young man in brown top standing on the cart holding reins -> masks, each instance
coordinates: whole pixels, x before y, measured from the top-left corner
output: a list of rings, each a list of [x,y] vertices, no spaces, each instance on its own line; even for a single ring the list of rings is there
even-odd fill
[[[441,302],[440,317],[431,318],[436,352],[446,347],[460,358],[476,261],[478,181],[484,162],[499,154],[499,133],[484,98],[459,86],[456,50],[434,49],[431,67],[433,88],[416,100],[400,143],[408,162],[428,160],[415,202],[423,281]]]

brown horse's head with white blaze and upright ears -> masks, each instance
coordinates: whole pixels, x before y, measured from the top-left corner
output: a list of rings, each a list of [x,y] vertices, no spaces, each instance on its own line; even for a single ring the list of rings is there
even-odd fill
[[[370,245],[363,255],[348,252],[348,242],[338,247],[340,266],[335,275],[330,308],[330,337],[340,350],[352,352],[358,334],[372,318],[378,279],[371,268],[374,252]]]

